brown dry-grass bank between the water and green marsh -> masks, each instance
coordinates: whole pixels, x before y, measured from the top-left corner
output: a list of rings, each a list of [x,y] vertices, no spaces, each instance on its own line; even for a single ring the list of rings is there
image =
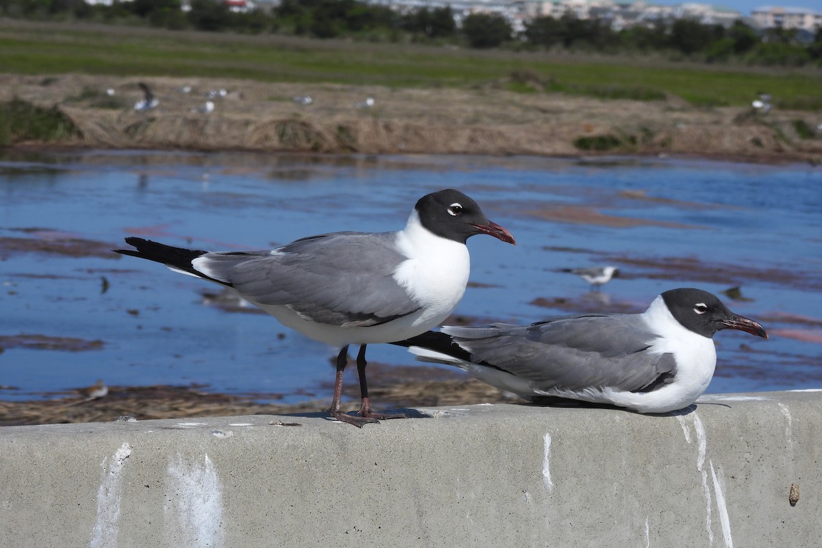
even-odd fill
[[[159,100],[136,111],[144,81]],[[190,90],[183,91],[186,87]],[[0,101],[58,105],[99,148],[365,154],[695,154],[822,160],[818,113],[475,90],[272,84],[196,78],[0,75]],[[107,90],[111,90],[107,93]],[[224,93],[221,93],[224,90]],[[214,97],[208,97],[209,92]],[[296,98],[310,97],[301,104]],[[364,106],[367,97],[373,104]],[[214,110],[199,109],[210,100]],[[307,101],[306,101],[307,102]],[[798,127],[797,127],[798,125]],[[803,131],[804,128],[804,131]],[[810,131],[810,134],[809,134]]]

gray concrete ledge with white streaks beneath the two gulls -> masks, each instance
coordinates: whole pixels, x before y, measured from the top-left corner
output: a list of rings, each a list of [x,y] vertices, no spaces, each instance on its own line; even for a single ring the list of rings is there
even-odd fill
[[[0,546],[818,546],[822,391],[0,428]],[[271,421],[302,426],[273,426]],[[789,502],[792,484],[799,500]]]

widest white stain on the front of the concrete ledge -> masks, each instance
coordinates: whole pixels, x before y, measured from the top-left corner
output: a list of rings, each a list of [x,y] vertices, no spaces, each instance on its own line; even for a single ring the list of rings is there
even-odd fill
[[[192,461],[178,454],[167,474],[163,513],[169,546],[224,546],[223,493],[208,455]]]

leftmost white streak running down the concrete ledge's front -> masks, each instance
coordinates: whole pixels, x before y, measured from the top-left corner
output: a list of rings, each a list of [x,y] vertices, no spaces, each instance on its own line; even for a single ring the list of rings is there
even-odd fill
[[[91,532],[90,548],[115,548],[120,522],[122,467],[132,454],[132,446],[123,443],[110,458],[103,458],[103,481],[97,489],[97,518]]]

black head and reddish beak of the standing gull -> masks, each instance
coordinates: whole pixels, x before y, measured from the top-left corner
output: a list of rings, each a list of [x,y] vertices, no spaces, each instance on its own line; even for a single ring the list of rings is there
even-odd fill
[[[489,221],[477,202],[460,191],[432,192],[420,198],[414,209],[423,227],[439,237],[465,243],[474,234],[488,234],[515,244],[505,228]]]

